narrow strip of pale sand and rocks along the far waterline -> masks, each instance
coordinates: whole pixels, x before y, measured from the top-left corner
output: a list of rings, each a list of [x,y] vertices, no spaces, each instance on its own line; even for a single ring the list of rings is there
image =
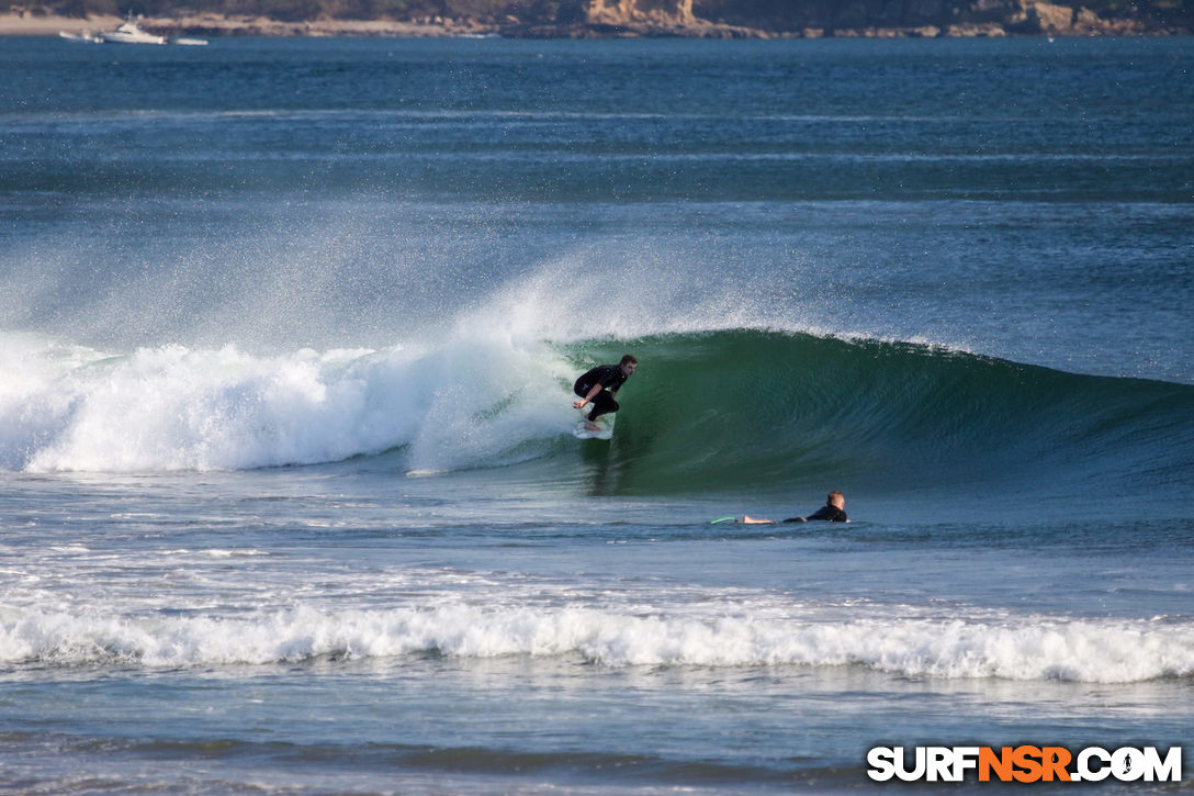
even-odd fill
[[[53,14],[0,13],[0,36],[57,36],[96,33],[123,22],[115,16],[88,18]],[[506,37],[506,38],[1002,38],[1002,37],[1091,37],[1091,36],[1188,36],[1181,29],[1147,29],[1130,20],[1100,20],[1097,25],[1064,31],[1026,32],[998,24],[934,25],[919,27],[804,29],[773,31],[697,20],[691,25],[497,25],[476,20],[433,18],[417,22],[387,19],[313,19],[283,22],[266,17],[215,13],[180,17],[146,17],[139,24],[165,36],[266,36],[266,37]]]

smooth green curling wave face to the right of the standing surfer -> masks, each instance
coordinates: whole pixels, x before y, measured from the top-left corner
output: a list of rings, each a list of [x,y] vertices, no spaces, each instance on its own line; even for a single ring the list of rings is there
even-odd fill
[[[1147,479],[1181,477],[1194,460],[1187,385],[910,343],[745,330],[593,342],[568,353],[581,351],[601,361],[629,351],[640,361],[618,396],[614,442],[589,454],[607,491]]]

